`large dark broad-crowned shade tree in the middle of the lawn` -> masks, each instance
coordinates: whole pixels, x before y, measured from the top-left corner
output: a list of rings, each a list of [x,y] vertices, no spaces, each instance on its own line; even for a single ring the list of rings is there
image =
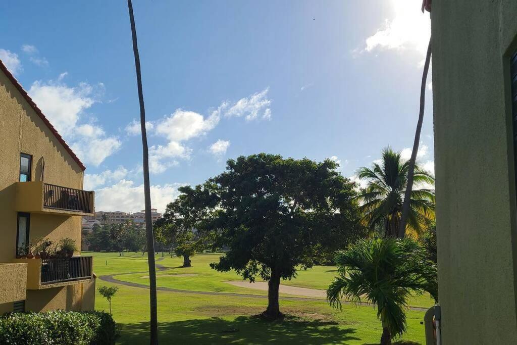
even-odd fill
[[[263,316],[282,316],[281,279],[311,267],[329,248],[360,233],[355,184],[329,159],[284,159],[257,154],[227,161],[226,171],[209,182],[219,202],[212,227],[216,247],[229,251],[212,268],[235,269],[244,279],[268,281]]]

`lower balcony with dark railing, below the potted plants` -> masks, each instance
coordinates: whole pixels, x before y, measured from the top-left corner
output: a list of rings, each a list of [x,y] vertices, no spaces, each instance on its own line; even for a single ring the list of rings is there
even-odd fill
[[[93,257],[15,259],[27,263],[27,289],[41,290],[93,278]]]

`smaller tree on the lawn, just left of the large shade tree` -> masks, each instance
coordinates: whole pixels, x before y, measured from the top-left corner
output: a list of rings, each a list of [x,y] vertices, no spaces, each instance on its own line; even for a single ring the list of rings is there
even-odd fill
[[[205,231],[218,203],[218,197],[206,186],[179,187],[181,194],[169,203],[163,217],[156,222],[157,238],[174,246],[183,267],[190,267],[195,253],[210,245],[212,232]]]

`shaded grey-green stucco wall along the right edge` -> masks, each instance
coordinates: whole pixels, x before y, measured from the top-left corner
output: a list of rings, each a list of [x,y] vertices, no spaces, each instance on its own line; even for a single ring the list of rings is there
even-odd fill
[[[433,1],[438,290],[446,345],[517,343],[508,78],[516,14],[514,0]]]

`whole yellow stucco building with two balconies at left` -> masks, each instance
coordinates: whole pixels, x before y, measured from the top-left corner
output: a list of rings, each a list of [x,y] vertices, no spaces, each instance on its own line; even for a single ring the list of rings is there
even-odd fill
[[[83,163],[2,62],[0,162],[0,314],[93,309],[92,257],[21,258],[37,238],[80,248],[94,192],[82,190]]]

